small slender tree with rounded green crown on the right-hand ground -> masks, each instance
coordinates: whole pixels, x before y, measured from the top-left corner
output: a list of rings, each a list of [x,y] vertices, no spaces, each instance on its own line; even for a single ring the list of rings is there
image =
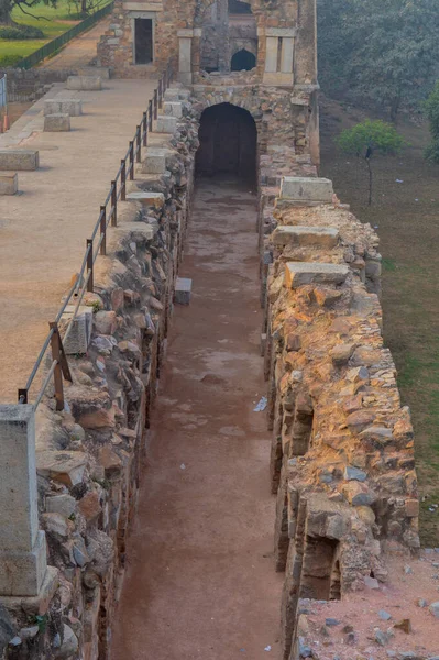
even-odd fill
[[[369,205],[372,204],[373,173],[371,161],[375,154],[397,154],[406,144],[395,127],[385,121],[366,119],[340,133],[337,144],[347,153],[364,157],[369,170]]]

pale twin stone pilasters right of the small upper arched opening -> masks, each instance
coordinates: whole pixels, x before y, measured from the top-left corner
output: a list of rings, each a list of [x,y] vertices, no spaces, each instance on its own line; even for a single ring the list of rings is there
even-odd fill
[[[294,40],[296,32],[296,28],[265,29],[263,82],[266,85],[289,86],[294,84]]]

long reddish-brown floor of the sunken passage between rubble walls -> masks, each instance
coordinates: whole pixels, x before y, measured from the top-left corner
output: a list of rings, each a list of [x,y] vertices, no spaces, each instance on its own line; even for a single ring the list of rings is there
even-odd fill
[[[246,187],[198,183],[112,660],[278,656],[255,219]]]

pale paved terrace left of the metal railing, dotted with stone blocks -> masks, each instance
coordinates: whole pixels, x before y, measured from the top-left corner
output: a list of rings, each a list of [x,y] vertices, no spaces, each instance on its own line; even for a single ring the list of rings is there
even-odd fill
[[[46,98],[84,102],[69,133],[42,132],[42,99],[0,136],[0,147],[40,151],[40,169],[19,173],[19,195],[0,198],[1,403],[14,403],[25,384],[155,86],[106,80],[97,92],[55,87]]]

